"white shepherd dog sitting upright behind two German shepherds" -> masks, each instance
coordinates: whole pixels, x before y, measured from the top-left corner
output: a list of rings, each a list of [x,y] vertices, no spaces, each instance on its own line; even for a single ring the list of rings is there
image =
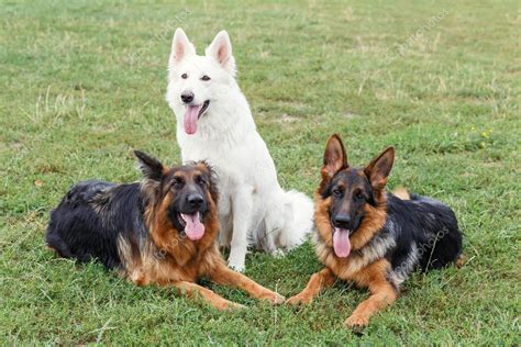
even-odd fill
[[[220,243],[230,247],[230,267],[244,270],[248,246],[278,254],[300,245],[312,228],[313,203],[303,193],[280,188],[235,81],[225,31],[200,56],[177,29],[166,100],[176,114],[182,161],[207,160],[218,174]]]

